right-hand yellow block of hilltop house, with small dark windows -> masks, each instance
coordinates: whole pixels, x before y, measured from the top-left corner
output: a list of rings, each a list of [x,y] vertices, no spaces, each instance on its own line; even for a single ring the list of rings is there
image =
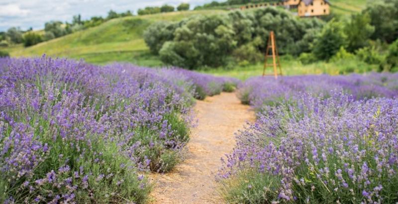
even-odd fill
[[[330,6],[324,0],[313,0],[312,5],[305,5],[305,3],[301,1],[297,11],[298,16],[329,15]]]

